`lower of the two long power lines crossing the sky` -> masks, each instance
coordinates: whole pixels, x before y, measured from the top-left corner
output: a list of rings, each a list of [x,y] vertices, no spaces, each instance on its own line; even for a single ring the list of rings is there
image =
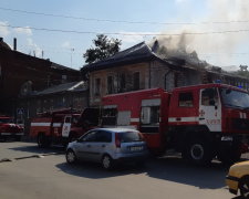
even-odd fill
[[[226,33],[241,33],[249,32],[249,29],[241,30],[227,30],[227,31],[210,31],[210,32],[183,32],[183,33],[124,33],[124,32],[95,32],[95,31],[75,31],[75,30],[62,30],[62,29],[48,29],[48,28],[35,28],[35,27],[19,27],[10,24],[0,24],[0,27],[8,27],[12,29],[27,29],[35,31],[46,32],[62,32],[62,33],[76,33],[76,34],[108,34],[108,35],[123,35],[123,36],[180,36],[180,35],[206,35],[206,34],[226,34]]]

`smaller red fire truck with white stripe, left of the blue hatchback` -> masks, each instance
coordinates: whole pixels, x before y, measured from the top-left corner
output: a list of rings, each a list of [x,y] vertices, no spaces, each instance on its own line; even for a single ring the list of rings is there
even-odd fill
[[[98,124],[98,108],[85,108],[82,113],[65,108],[39,114],[31,121],[30,136],[39,147],[51,143],[68,145]]]

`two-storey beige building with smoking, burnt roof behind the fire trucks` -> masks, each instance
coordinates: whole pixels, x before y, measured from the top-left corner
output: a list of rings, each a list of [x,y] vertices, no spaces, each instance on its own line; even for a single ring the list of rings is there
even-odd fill
[[[153,49],[153,48],[152,48]],[[144,42],[112,57],[82,67],[89,78],[90,105],[100,106],[107,94],[162,87],[174,87],[222,82],[249,88],[245,77],[224,72],[220,67],[190,59],[162,59]]]

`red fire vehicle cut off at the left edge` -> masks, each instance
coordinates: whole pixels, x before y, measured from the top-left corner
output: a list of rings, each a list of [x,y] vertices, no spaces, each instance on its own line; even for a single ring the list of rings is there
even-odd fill
[[[23,127],[14,124],[12,117],[0,115],[0,139],[14,138],[20,140],[23,135]]]

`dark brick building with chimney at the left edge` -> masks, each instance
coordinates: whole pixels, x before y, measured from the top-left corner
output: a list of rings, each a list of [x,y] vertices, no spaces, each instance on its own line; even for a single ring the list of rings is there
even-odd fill
[[[0,113],[15,115],[19,96],[80,78],[80,71],[11,50],[0,38]]]

